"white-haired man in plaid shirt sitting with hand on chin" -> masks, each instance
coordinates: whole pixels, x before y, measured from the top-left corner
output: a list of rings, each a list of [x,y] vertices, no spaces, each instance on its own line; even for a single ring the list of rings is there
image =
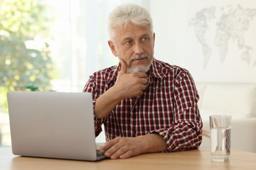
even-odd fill
[[[202,120],[190,73],[154,58],[155,33],[139,5],[116,7],[108,18],[108,45],[119,64],[96,71],[83,92],[93,94],[95,134],[104,124],[111,159],[198,148]]]

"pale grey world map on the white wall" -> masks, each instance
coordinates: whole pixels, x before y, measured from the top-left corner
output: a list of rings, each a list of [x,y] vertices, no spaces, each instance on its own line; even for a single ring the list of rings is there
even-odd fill
[[[245,9],[241,5],[225,7],[208,7],[196,12],[194,18],[188,20],[194,28],[196,39],[200,42],[203,52],[203,68],[207,67],[212,57],[213,48],[219,51],[219,59],[224,62],[228,54],[228,45],[235,43],[240,54],[238,56],[247,65],[256,67],[256,58],[251,52],[255,44],[247,44],[245,33],[251,22],[256,22],[256,9]],[[254,20],[255,19],[255,20]],[[214,30],[212,25],[214,25]],[[207,31],[213,32],[214,38],[209,39]],[[255,31],[253,31],[255,34]],[[210,41],[213,41],[210,43]]]

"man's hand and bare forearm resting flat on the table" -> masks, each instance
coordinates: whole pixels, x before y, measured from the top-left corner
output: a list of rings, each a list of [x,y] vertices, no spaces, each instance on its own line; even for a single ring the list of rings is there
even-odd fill
[[[116,137],[100,148],[110,159],[130,158],[148,152],[161,152],[167,148],[165,140],[158,134],[138,137]]]

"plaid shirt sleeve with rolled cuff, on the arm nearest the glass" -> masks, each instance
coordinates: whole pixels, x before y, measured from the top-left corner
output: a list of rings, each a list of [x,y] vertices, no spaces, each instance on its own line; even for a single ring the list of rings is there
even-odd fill
[[[169,115],[173,116],[172,125],[150,131],[165,139],[165,152],[194,149],[202,143],[202,119],[197,105],[199,95],[194,80],[185,71],[177,75],[174,83],[172,102],[175,109],[173,115]]]

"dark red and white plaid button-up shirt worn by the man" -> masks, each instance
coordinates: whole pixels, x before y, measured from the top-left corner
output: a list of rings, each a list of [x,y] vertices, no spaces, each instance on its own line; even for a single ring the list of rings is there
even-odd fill
[[[121,65],[97,71],[90,76],[83,92],[96,99],[114,86]],[[104,124],[106,141],[115,137],[137,137],[158,133],[167,150],[198,148],[202,142],[202,120],[198,110],[198,92],[186,69],[153,60],[149,84],[139,97],[123,99],[106,118],[95,117],[95,134]]]

